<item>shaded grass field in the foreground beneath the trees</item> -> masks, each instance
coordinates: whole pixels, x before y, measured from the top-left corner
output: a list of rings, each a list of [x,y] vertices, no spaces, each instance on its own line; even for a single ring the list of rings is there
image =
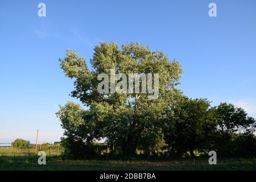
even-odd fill
[[[46,151],[47,164],[39,165],[34,149],[0,148],[0,170],[256,170],[256,159],[208,158],[174,160],[63,160],[57,151]]]

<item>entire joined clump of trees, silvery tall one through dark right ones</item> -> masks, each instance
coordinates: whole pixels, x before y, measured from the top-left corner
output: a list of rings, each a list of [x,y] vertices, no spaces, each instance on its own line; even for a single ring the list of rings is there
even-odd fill
[[[90,64],[92,69],[71,49],[60,59],[65,76],[74,80],[71,96],[82,104],[68,101],[56,113],[64,129],[64,154],[93,158],[102,153],[94,142],[104,139],[110,154],[116,156],[133,157],[137,150],[145,155],[167,150],[171,155],[184,156],[189,151],[193,156],[195,151],[216,150],[218,155],[255,156],[255,119],[231,104],[211,107],[206,99],[183,96],[175,88],[181,66],[163,52],[138,43],[121,47],[100,43]],[[99,93],[97,76],[110,77],[110,69],[115,74],[159,73],[159,97],[148,100],[145,93]]]

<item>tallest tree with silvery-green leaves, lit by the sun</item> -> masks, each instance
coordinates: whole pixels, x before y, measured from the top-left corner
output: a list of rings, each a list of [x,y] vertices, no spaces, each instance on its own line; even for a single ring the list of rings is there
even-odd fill
[[[139,43],[123,44],[121,48],[116,43],[100,43],[94,48],[90,65],[92,69],[71,49],[60,59],[65,75],[75,78],[72,97],[88,107],[85,110],[73,102],[60,107],[57,115],[64,135],[73,142],[83,143],[104,138],[115,148],[121,148],[123,155],[134,155],[139,142],[143,142],[142,134],[147,136],[147,132],[160,129],[168,118],[166,110],[180,94],[175,85],[179,84],[181,66],[163,52],[151,51]],[[159,97],[149,100],[148,93],[99,92],[97,76],[106,73],[110,77],[110,69],[116,74],[158,73]],[[115,80],[115,84],[117,82]]]

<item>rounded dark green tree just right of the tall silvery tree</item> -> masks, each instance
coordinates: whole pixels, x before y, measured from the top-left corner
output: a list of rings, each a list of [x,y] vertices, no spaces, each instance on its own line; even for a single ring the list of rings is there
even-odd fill
[[[163,127],[170,152],[182,156],[209,147],[216,127],[214,111],[205,99],[181,98],[171,107],[169,121]]]

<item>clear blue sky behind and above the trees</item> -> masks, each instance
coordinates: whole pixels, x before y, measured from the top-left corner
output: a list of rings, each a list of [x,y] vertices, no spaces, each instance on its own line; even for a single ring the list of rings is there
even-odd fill
[[[38,3],[46,3],[46,17]],[[208,5],[217,5],[209,17]],[[256,117],[256,1],[0,1],[0,143],[59,140],[55,116],[73,81],[58,59],[98,42],[139,42],[180,61],[184,94]]]

